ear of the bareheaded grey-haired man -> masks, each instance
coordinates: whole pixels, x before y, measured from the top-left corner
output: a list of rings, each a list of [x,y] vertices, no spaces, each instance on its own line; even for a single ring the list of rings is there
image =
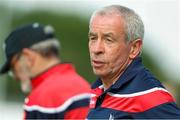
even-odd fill
[[[130,59],[137,57],[142,49],[142,39],[136,39],[131,42]]]

